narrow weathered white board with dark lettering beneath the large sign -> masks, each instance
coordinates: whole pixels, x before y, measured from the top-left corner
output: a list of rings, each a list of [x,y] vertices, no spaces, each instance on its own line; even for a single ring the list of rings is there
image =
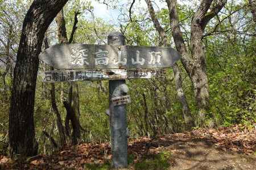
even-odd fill
[[[43,82],[75,82],[84,80],[118,80],[134,78],[154,78],[166,75],[164,69],[135,70],[51,70],[39,73]]]

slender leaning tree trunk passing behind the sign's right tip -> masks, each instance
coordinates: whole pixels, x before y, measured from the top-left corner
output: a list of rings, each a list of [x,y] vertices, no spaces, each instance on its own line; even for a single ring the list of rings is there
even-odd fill
[[[168,46],[166,31],[164,31],[164,29],[162,28],[162,26],[159,23],[159,20],[156,18],[155,11],[154,11],[151,1],[150,0],[145,0],[145,1],[147,3],[148,11],[150,12],[152,22],[154,23],[154,26],[160,35],[160,40],[161,40],[160,45]],[[183,91],[180,69],[179,69],[179,66],[177,65],[177,63],[175,63],[172,66],[172,69],[174,70],[177,96],[178,96],[180,103],[182,105],[182,108],[183,108],[182,111],[183,111],[184,121],[185,121],[187,128],[191,129],[195,125],[195,123],[193,121],[191,111],[189,109],[187,98]]]

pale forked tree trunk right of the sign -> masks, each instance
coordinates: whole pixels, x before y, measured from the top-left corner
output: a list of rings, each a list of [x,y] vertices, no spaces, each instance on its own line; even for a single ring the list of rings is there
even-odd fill
[[[213,0],[202,0],[195,12],[191,22],[191,49],[190,55],[182,37],[179,26],[176,0],[166,0],[170,14],[170,24],[175,46],[181,54],[181,62],[187,71],[193,84],[194,96],[199,110],[199,125],[204,124],[205,113],[209,107],[209,87],[207,78],[207,67],[205,62],[205,51],[202,42],[206,25],[225,6],[226,0],[219,0],[212,4]],[[211,10],[208,12],[210,6]]]

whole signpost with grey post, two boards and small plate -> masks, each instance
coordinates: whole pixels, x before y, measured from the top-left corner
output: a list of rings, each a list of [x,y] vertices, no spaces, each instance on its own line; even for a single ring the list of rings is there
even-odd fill
[[[39,73],[43,82],[109,80],[109,117],[112,166],[127,167],[126,104],[131,102],[125,79],[164,76],[180,54],[175,49],[156,46],[127,46],[122,33],[112,32],[108,45],[53,45],[39,55],[57,70]]]

